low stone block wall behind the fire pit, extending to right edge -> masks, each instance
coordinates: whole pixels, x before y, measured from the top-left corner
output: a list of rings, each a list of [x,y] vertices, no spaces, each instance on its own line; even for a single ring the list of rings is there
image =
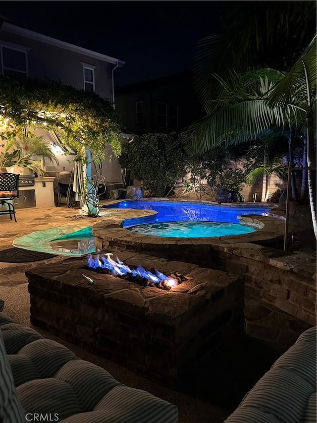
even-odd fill
[[[245,244],[180,244],[127,243],[126,239],[107,240],[103,248],[157,255],[168,260],[179,260],[203,267],[245,275],[245,294],[272,304],[310,325],[316,324],[316,274],[307,263],[298,260],[298,268],[287,259],[270,258],[279,250],[261,245]],[[106,246],[105,246],[106,245]]]

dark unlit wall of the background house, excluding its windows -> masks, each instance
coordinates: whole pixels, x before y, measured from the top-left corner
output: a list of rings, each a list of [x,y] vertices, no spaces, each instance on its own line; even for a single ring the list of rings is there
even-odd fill
[[[136,102],[144,102],[144,121],[136,122]],[[158,102],[178,107],[177,128],[159,127]],[[115,90],[116,111],[125,132],[144,134],[180,131],[203,116],[196,99],[192,74],[183,73],[120,87]]]

